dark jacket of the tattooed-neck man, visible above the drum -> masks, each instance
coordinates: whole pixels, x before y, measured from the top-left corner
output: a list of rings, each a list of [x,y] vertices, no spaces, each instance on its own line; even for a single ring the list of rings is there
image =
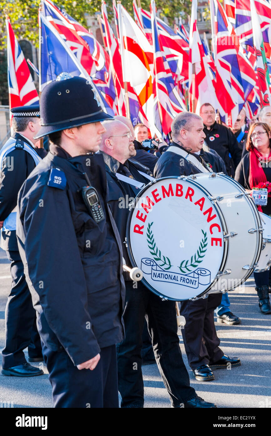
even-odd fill
[[[171,143],[171,145],[183,149],[182,146],[174,141]],[[187,150],[183,150],[187,152]],[[204,167],[206,167],[206,164],[200,155],[198,156],[194,153],[187,153],[192,154]],[[190,176],[191,174],[198,174],[199,172],[200,171],[197,167],[188,162],[188,160],[185,160],[179,154],[172,151],[165,151],[165,153],[163,153],[158,159],[157,164],[154,167],[154,177],[156,179],[170,176]]]

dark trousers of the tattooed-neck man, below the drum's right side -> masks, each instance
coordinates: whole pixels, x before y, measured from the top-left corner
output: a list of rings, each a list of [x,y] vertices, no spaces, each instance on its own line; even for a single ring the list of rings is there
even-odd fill
[[[214,325],[214,309],[220,305],[222,294],[210,294],[196,301],[181,301],[180,314],[186,324],[182,330],[189,365],[196,369],[216,362],[224,355]]]

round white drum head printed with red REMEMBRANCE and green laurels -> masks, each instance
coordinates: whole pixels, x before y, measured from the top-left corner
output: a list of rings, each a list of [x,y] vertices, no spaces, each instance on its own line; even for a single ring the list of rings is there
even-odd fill
[[[223,268],[224,230],[204,188],[187,177],[165,177],[147,185],[130,210],[130,260],[154,293],[177,301],[201,296]]]

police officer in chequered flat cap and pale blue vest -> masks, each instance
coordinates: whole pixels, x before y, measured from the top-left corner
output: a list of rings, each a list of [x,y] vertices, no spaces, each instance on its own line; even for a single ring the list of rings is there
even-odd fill
[[[0,221],[3,221],[0,247],[11,261],[11,291],[5,313],[6,345],[3,349],[3,375],[30,377],[43,371],[27,363],[23,350],[28,347],[30,362],[42,361],[40,335],[37,332],[36,313],[23,273],[16,239],[17,196],[25,179],[46,155],[36,148],[33,139],[40,129],[38,105],[11,109],[14,134],[0,150]]]

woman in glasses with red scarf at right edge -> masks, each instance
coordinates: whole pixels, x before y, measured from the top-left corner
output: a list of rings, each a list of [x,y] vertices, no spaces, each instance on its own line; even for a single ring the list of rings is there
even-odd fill
[[[246,149],[249,151],[236,168],[234,179],[246,190],[267,188],[266,206],[257,205],[258,210],[271,215],[271,129],[266,123],[253,123],[248,132]],[[269,186],[270,184],[270,186]],[[271,313],[269,301],[269,271],[254,272],[256,291],[261,313]]]

